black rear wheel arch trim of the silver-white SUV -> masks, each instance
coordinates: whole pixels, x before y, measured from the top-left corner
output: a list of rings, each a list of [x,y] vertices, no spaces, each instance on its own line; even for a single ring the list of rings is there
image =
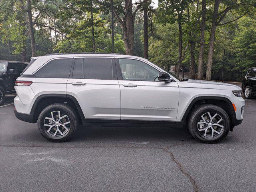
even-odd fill
[[[85,118],[83,111],[74,96],[67,94],[42,94],[36,98],[31,108],[30,114],[33,114],[33,123],[37,122],[40,112],[48,105],[53,103],[64,103],[75,109],[77,115],[82,120]]]

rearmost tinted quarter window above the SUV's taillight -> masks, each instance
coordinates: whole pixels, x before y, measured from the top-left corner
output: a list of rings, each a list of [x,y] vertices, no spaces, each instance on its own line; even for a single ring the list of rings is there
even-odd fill
[[[72,58],[51,60],[38,72],[36,72],[35,76],[48,78],[69,78],[72,61]]]

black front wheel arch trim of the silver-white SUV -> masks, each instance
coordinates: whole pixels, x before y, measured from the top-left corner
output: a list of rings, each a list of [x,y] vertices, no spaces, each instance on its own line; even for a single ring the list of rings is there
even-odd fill
[[[233,104],[228,98],[220,97],[220,96],[199,96],[199,97],[194,98],[190,102],[189,106],[187,107],[187,109],[181,119],[181,122],[183,124],[186,124],[190,112],[194,108],[196,108],[197,106],[200,106],[202,104],[214,104],[216,106],[223,108],[227,112],[227,114],[230,118],[230,123],[231,123],[230,130],[231,131],[233,130],[234,122],[236,120],[236,112],[234,110]]]

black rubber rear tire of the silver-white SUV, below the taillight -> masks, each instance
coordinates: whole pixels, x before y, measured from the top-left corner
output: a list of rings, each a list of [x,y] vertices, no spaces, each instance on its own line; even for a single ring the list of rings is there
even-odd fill
[[[56,114],[58,113],[58,111],[60,111],[60,114],[61,114],[60,117],[67,115],[67,117],[62,118],[62,121],[70,122],[69,124],[67,124],[67,127],[66,127],[68,128],[68,130],[66,131],[62,125],[58,125],[58,126],[53,126],[50,132],[48,133],[47,129],[50,128],[48,126],[51,126],[52,123],[56,124],[56,122],[54,123],[52,120],[46,119],[46,116],[49,117],[49,114],[51,115],[51,112],[53,112],[53,116],[55,114],[54,120],[57,120],[57,122],[62,123],[60,119],[58,119],[59,115]],[[44,126],[44,123],[47,120],[48,120],[48,123],[46,123],[47,126]],[[52,142],[64,142],[69,140],[77,130],[78,123],[79,123],[79,118],[75,110],[71,106],[68,106],[67,104],[62,104],[62,103],[51,104],[46,108],[44,108],[44,110],[42,110],[42,112],[40,113],[37,121],[38,129],[42,134],[42,136]],[[64,131],[61,131],[61,133],[62,134],[65,133],[65,134],[60,135],[60,132],[57,131],[57,127],[64,130]],[[52,132],[55,132],[55,130],[57,132],[56,136],[52,135],[53,134]]]

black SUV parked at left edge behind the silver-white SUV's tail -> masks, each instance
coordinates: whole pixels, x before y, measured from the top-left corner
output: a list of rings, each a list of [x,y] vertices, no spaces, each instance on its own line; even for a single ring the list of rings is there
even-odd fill
[[[15,93],[14,81],[28,63],[18,61],[0,61],[0,105],[4,104],[5,94]]]

